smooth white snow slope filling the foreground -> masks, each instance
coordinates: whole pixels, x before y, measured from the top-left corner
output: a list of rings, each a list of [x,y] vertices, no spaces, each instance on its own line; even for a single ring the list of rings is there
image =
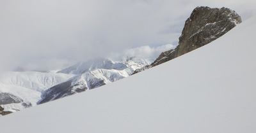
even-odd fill
[[[256,132],[255,22],[134,76],[3,116],[1,132]]]

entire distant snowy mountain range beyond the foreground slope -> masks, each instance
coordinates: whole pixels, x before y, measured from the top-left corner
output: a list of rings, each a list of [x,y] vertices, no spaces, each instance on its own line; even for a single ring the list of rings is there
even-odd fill
[[[95,59],[57,72],[7,72],[0,79],[0,106],[4,111],[19,111],[112,83],[153,61],[136,57],[121,61]]]

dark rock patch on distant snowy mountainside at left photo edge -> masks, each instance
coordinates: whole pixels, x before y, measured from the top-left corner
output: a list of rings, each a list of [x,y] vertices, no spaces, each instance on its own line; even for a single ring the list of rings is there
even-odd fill
[[[0,104],[12,104],[21,102],[23,102],[23,100],[20,99],[20,97],[9,93],[0,93]]]

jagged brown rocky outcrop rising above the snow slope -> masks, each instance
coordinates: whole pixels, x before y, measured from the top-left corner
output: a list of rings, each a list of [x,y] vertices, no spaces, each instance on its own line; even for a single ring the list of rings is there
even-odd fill
[[[161,53],[150,66],[137,69],[134,73],[157,66],[196,48],[207,45],[242,22],[236,11],[228,8],[197,7],[186,20],[179,45],[174,50]]]

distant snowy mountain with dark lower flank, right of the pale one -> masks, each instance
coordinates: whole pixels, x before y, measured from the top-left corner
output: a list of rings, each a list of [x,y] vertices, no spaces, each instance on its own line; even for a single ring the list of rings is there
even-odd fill
[[[127,58],[121,62],[97,59],[80,62],[58,73],[76,74],[73,78],[47,89],[38,104],[97,88],[131,75],[136,69],[147,66],[152,60]]]

